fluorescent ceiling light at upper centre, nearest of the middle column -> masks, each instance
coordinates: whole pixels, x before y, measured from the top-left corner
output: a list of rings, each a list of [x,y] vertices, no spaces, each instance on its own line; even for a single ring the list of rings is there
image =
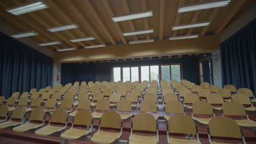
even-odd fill
[[[112,20],[114,22],[119,22],[119,21],[140,19],[142,17],[149,17],[149,16],[153,16],[153,11],[143,11],[141,13],[132,13],[132,14],[128,14],[128,15],[115,16],[112,18]]]

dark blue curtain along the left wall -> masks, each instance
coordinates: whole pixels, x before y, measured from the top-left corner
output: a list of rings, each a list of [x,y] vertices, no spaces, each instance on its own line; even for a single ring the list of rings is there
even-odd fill
[[[0,94],[9,98],[13,92],[51,86],[53,58],[45,56],[20,41],[0,33]]]

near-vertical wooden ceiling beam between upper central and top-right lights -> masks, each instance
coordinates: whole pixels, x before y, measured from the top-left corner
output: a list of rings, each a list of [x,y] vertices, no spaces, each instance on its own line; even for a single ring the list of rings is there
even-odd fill
[[[159,40],[164,37],[165,0],[159,1]]]

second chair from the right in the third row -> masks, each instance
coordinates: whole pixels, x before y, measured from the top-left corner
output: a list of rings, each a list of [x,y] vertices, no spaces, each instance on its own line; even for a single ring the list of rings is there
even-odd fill
[[[224,100],[221,95],[217,93],[211,93],[209,97],[207,97],[207,103],[211,104],[214,110],[222,110],[222,105],[224,104]]]

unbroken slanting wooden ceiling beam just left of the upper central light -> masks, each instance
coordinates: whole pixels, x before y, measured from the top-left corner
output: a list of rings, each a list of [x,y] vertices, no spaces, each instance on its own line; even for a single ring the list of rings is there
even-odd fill
[[[94,17],[94,19],[96,20],[96,22],[98,22],[98,24],[101,26],[101,28],[103,29],[103,32],[107,35],[108,39],[111,41],[111,43],[113,45],[116,45],[117,43],[115,43],[115,40],[113,39],[112,35],[110,35],[110,33],[108,32],[106,26],[103,24],[103,22],[101,21],[100,17],[98,16],[98,14],[96,13],[94,7],[92,7],[91,2],[89,1],[81,1],[84,2],[86,7],[89,8],[91,15]]]

